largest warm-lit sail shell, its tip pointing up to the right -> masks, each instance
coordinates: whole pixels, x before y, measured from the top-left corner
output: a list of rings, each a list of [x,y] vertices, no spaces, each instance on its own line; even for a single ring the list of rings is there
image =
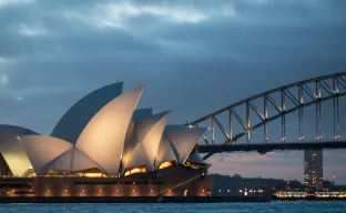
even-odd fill
[[[77,148],[108,174],[118,174],[128,128],[144,87],[130,90],[104,105],[86,124]]]

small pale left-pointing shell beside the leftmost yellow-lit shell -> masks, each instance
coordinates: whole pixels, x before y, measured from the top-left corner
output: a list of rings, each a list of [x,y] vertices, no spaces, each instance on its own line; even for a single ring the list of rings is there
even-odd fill
[[[32,168],[38,175],[43,175],[49,170],[49,164],[60,163],[59,156],[71,150],[73,145],[61,139],[45,135],[26,135],[19,136],[20,142],[30,159]],[[67,162],[67,161],[63,161]]]

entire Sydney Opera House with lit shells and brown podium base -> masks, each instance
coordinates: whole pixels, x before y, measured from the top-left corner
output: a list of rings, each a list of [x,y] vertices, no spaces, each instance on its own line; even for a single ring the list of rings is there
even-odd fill
[[[210,195],[194,151],[206,129],[166,125],[170,112],[136,110],[143,87],[122,90],[88,94],[51,135],[0,125],[0,197]]]

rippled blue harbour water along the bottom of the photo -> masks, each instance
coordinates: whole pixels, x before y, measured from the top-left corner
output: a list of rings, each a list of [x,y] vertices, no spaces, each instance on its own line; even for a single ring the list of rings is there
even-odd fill
[[[234,213],[322,213],[322,212],[346,212],[346,202],[326,201],[275,201],[271,203],[217,203],[217,204],[3,204],[0,212],[26,213],[26,212],[124,212],[124,213],[211,213],[211,212],[234,212]]]

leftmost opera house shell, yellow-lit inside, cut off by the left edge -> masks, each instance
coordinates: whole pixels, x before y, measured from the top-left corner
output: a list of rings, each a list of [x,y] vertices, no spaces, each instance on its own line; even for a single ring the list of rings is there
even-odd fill
[[[22,176],[28,169],[32,169],[26,150],[18,140],[22,135],[38,133],[16,125],[0,125],[0,152],[14,176]]]

